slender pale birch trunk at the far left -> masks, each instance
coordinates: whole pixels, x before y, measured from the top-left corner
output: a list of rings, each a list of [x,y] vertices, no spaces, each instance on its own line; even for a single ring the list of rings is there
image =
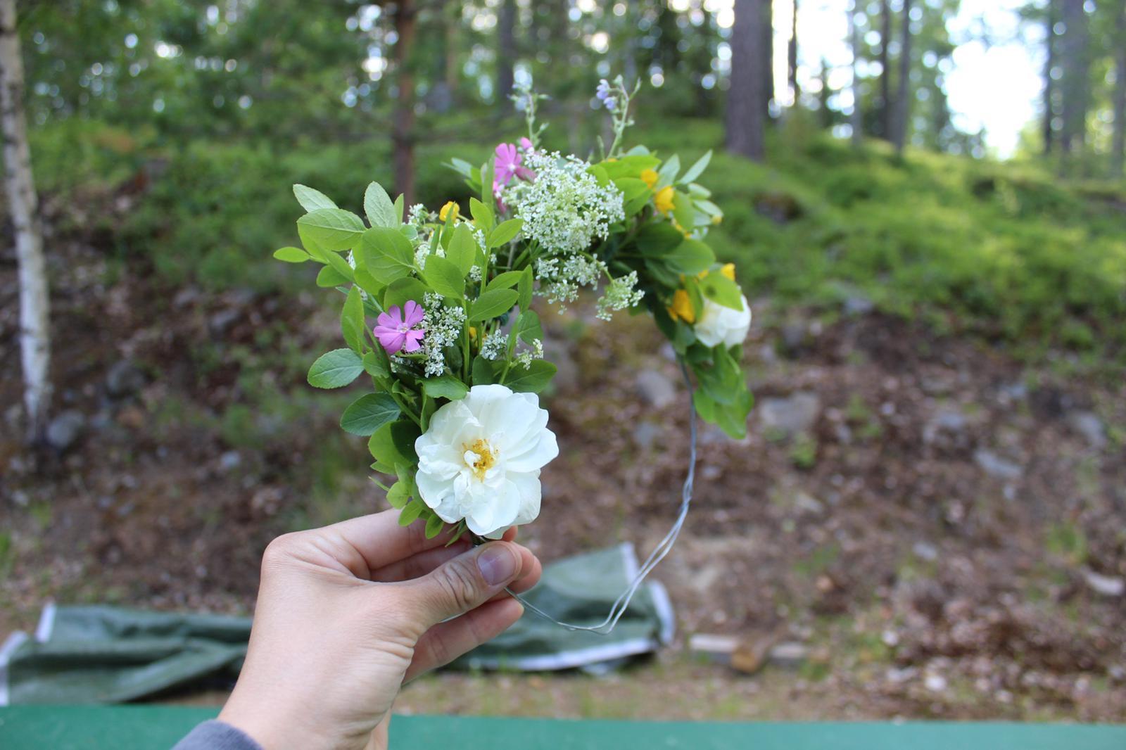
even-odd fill
[[[51,408],[50,298],[24,114],[24,62],[16,30],[16,0],[0,0],[0,120],[5,189],[19,262],[19,347],[27,435],[29,441],[37,441],[44,437]]]

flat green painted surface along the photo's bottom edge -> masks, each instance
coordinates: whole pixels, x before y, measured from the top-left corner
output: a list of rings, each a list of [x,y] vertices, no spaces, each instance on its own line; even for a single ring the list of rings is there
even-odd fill
[[[168,750],[214,708],[0,708],[3,750]],[[404,750],[1126,750],[1126,726],[1003,723],[725,723],[396,716]]]

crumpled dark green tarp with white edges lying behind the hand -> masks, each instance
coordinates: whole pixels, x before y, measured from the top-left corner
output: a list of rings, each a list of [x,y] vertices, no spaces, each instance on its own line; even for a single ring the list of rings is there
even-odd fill
[[[557,619],[596,625],[636,570],[631,545],[568,557],[544,570],[527,599]],[[605,670],[655,651],[672,628],[664,589],[647,583],[609,635],[569,631],[528,611],[450,667]],[[14,633],[0,646],[0,706],[123,703],[208,678],[231,681],[249,635],[245,617],[47,605],[34,635]]]

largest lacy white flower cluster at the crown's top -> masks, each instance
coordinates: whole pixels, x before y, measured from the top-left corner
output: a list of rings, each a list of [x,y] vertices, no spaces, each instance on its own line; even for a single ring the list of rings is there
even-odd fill
[[[531,182],[513,180],[502,198],[524,220],[524,234],[551,255],[586,250],[606,239],[610,224],[625,220],[622,193],[601,186],[578,157],[530,151],[524,166],[535,172]]]

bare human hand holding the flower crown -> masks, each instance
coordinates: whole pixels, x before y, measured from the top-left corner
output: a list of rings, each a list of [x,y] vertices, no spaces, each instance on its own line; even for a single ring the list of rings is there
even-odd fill
[[[504,588],[531,588],[540,564],[515,536],[446,547],[448,533],[427,539],[421,524],[403,528],[388,510],[278,537],[218,718],[265,750],[385,748],[404,682],[520,618]]]

